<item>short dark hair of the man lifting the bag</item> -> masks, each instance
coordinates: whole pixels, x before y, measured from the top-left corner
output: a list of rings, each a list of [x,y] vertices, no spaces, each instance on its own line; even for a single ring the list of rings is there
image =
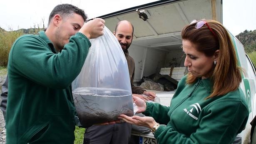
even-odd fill
[[[50,13],[49,16],[49,21],[48,21],[48,25],[50,24],[50,21],[52,19],[52,17],[54,17],[55,15],[60,15],[62,17],[67,17],[70,16],[72,14],[78,14],[81,15],[84,19],[84,21],[87,20],[87,15],[85,14],[84,10],[81,10],[80,8],[74,6],[74,5],[70,5],[70,4],[61,4],[61,5],[57,5],[56,7],[53,8],[52,12]]]

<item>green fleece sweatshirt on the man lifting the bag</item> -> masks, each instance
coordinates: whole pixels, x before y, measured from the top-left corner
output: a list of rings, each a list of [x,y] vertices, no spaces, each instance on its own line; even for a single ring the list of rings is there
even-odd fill
[[[80,32],[58,53],[43,31],[14,42],[8,61],[7,144],[74,143],[71,83],[90,46]]]

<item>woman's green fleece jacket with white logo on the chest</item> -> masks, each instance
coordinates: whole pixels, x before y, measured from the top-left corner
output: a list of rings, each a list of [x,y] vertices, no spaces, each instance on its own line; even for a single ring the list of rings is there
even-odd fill
[[[211,94],[210,79],[186,84],[181,79],[170,107],[147,103],[146,116],[161,125],[154,137],[159,144],[231,144],[246,126],[248,106],[241,89],[205,99]]]

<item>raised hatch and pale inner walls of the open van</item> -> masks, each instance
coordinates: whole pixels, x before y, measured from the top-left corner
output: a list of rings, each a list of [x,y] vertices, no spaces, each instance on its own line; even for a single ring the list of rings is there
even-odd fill
[[[161,73],[166,74],[164,67],[184,67],[182,28],[192,20],[213,19],[222,23],[222,4],[220,0],[161,0],[101,18],[112,32],[119,21],[133,24],[133,41],[128,50],[135,61],[136,84],[142,77],[161,72],[161,68]]]

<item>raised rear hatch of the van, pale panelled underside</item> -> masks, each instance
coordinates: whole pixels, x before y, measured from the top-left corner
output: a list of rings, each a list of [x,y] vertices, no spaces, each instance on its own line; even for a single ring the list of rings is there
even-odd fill
[[[159,0],[102,15],[105,25],[114,31],[117,22],[134,25],[134,45],[164,51],[179,49],[181,29],[191,20],[213,19],[222,23],[221,0]]]

